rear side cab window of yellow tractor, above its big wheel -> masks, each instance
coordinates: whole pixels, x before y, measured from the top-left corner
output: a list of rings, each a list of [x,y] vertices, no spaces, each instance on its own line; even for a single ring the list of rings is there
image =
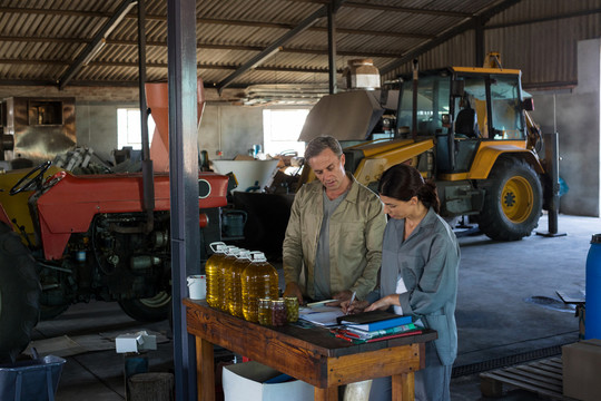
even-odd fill
[[[524,139],[518,77],[491,76],[493,139]]]

